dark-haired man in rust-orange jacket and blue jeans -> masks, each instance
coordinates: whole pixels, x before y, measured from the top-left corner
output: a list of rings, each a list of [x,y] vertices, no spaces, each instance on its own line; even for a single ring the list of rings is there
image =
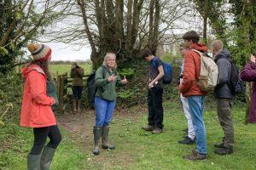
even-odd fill
[[[207,159],[207,135],[203,120],[203,105],[207,92],[201,90],[198,84],[201,71],[201,55],[206,53],[207,47],[199,43],[200,36],[195,31],[188,31],[183,35],[184,47],[188,48],[184,57],[183,81],[179,85],[179,91],[188,99],[189,110],[195,128],[196,149],[188,156],[187,160]],[[194,51],[196,50],[196,51]]]

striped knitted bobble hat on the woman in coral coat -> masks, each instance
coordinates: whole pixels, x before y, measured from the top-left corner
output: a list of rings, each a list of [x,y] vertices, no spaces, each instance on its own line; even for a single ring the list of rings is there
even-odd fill
[[[51,59],[51,48],[49,46],[39,43],[29,43],[28,50],[35,60],[49,61]]]

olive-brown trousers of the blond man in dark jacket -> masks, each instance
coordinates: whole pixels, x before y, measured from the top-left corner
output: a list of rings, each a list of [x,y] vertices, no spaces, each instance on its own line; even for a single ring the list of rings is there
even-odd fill
[[[234,144],[231,106],[231,99],[217,99],[218,121],[224,131],[224,146],[227,147]]]

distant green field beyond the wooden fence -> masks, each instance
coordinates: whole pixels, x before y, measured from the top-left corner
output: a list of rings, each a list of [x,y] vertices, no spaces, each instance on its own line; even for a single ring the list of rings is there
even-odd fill
[[[82,66],[84,68],[84,74],[89,74],[91,71],[91,64],[84,64],[84,65],[79,65]],[[56,77],[56,75],[61,75],[64,74],[65,72],[67,72],[67,74],[69,74],[70,69],[71,69],[71,65],[49,65],[49,69],[52,73],[52,75],[54,77]]]

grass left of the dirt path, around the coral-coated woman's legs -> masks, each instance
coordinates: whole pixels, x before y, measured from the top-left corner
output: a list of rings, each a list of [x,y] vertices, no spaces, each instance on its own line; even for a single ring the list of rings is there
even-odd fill
[[[0,129],[0,169],[25,170],[26,155],[32,147],[32,128],[19,127],[16,124],[7,124]],[[62,131],[62,142],[55,152],[52,168],[55,170],[84,169],[84,160],[87,155]]]

